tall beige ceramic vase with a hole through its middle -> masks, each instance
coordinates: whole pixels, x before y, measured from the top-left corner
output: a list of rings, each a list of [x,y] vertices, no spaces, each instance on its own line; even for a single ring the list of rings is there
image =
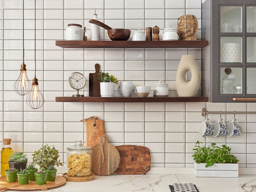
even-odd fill
[[[191,72],[191,81],[186,81],[186,72],[188,71]],[[194,97],[198,92],[200,82],[201,76],[194,61],[194,55],[182,55],[176,75],[178,96]]]

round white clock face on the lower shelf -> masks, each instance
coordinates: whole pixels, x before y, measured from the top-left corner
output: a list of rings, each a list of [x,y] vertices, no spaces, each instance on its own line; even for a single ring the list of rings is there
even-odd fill
[[[70,74],[68,78],[68,82],[70,83],[70,87],[73,89],[82,89],[86,86],[86,78],[82,73],[74,72]]]

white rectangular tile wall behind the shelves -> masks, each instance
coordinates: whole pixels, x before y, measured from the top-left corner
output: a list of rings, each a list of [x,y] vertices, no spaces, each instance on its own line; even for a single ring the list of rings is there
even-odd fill
[[[243,134],[239,137],[202,138],[198,129],[204,118],[201,109],[222,111],[255,111],[254,103],[56,103],[57,96],[75,93],[68,84],[73,71],[94,72],[95,63],[118,77],[133,81],[135,86],[151,86],[162,79],[169,84],[169,95],[177,95],[175,76],[182,55],[194,54],[201,69],[201,49],[62,49],[55,40],[65,39],[68,23],[86,26],[94,9],[98,19],[113,28],[145,30],[158,25],[177,28],[177,18],[194,14],[198,18],[201,38],[201,0],[36,0],[36,64],[39,87],[45,103],[39,110],[26,106],[26,97],[15,94],[13,84],[22,64],[22,18],[20,0],[0,0],[0,144],[12,138],[15,152],[31,153],[43,143],[55,145],[65,162],[67,146],[75,140],[86,142],[81,119],[98,116],[105,121],[105,132],[113,145],[143,145],[150,148],[153,167],[193,166],[194,143],[231,146],[241,167],[256,167],[256,121],[253,114],[236,116]],[[101,29],[101,39],[108,40]],[[25,63],[30,79],[34,73],[34,1],[25,0]],[[188,74],[190,79],[190,74]],[[88,82],[81,94],[89,95]],[[115,95],[118,86],[115,86]],[[201,94],[201,88],[198,95]],[[133,93],[135,96],[135,94]],[[211,114],[217,121],[220,116]],[[233,115],[223,115],[226,122]],[[31,161],[31,159],[29,159]]]

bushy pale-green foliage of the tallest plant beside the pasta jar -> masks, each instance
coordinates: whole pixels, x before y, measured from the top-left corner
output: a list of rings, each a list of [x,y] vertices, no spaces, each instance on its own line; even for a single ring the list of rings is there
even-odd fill
[[[62,163],[58,159],[60,155],[54,146],[43,145],[38,151],[34,151],[32,156],[33,164],[39,166],[40,170],[38,173],[44,173],[43,170],[49,166],[62,166]]]

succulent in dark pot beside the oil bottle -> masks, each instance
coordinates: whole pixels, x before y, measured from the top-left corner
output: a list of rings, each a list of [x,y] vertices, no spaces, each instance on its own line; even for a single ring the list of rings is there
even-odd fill
[[[15,169],[26,169],[26,162],[28,162],[28,158],[26,158],[26,154],[23,153],[13,153],[10,154],[10,158],[8,160],[9,167]]]

